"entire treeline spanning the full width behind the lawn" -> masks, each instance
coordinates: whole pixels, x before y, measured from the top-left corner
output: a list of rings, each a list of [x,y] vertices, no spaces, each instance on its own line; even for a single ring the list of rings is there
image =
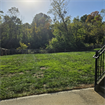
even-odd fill
[[[0,47],[59,52],[105,44],[105,22],[102,22],[104,9],[102,14],[95,11],[83,15],[80,19],[76,17],[73,21],[69,16],[66,17],[66,13],[64,10],[59,11],[53,21],[48,15],[39,13],[31,24],[22,24],[18,17],[18,8],[12,7],[5,16],[2,16],[3,11],[0,11]]]

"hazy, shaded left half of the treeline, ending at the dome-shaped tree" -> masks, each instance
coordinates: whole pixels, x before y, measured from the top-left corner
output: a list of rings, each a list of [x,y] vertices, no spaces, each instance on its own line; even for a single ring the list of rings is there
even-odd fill
[[[46,48],[52,39],[51,19],[43,13],[36,14],[32,23],[22,24],[18,8],[12,7],[0,24],[0,47],[7,49]]]

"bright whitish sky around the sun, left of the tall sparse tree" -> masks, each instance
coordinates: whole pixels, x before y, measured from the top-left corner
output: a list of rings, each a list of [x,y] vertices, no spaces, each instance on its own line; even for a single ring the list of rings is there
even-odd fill
[[[40,12],[47,14],[50,9],[50,0],[0,0],[0,10],[7,14],[8,9],[19,9],[23,23],[31,23],[34,16]]]

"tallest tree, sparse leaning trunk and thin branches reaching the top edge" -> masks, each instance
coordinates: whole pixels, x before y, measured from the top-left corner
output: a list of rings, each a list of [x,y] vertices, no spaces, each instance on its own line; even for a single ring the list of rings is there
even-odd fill
[[[74,40],[71,30],[68,29],[70,17],[66,17],[66,0],[52,0],[51,6],[52,8],[48,11],[48,13],[54,15],[53,34],[55,38],[52,39],[49,44],[53,46],[52,48],[55,48],[54,43],[59,43],[56,46],[56,48],[58,48],[57,50],[70,50],[74,46]]]

